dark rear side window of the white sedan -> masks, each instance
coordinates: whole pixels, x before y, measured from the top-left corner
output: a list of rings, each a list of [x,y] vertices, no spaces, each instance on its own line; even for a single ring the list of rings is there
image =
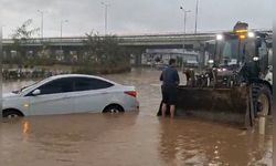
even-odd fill
[[[112,83],[89,77],[76,77],[75,79],[75,91],[89,91],[89,90],[100,90],[113,86]]]

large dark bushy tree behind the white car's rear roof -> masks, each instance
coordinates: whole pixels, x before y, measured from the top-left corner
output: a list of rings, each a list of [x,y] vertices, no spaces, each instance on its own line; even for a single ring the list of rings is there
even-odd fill
[[[120,39],[116,35],[99,35],[86,33],[86,56],[78,60],[86,71],[102,71],[104,73],[120,72],[130,69],[130,56],[126,49],[119,45]]]

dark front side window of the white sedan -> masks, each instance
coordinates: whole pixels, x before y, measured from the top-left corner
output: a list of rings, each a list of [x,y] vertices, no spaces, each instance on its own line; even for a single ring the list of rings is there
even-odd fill
[[[73,80],[70,77],[51,81],[39,87],[42,94],[73,92]]]

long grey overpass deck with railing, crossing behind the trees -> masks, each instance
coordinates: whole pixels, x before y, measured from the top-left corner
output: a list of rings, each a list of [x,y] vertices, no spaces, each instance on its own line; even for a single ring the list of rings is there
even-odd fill
[[[166,46],[166,45],[183,45],[198,44],[215,38],[215,33],[198,33],[198,34],[142,34],[142,35],[118,35],[120,45],[125,46]],[[28,39],[22,46],[41,46],[47,44],[51,46],[82,46],[85,45],[86,37],[71,38],[34,38]],[[12,39],[3,39],[3,46],[13,44]]]

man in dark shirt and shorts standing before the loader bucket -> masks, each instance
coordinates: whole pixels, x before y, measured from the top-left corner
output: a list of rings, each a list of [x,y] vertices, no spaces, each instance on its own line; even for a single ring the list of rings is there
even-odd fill
[[[162,81],[162,117],[166,116],[168,105],[170,106],[171,118],[174,117],[177,86],[179,85],[179,75],[174,66],[176,60],[170,59],[169,66],[166,68],[160,75],[160,81]]]

